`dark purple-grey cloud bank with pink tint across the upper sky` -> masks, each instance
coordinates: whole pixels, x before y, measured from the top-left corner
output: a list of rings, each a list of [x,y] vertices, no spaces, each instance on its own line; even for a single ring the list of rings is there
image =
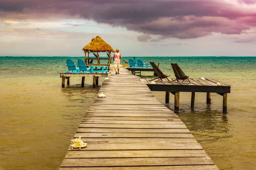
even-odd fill
[[[255,0],[0,0],[0,20],[89,19],[163,39],[189,39],[255,28],[255,9]]]

